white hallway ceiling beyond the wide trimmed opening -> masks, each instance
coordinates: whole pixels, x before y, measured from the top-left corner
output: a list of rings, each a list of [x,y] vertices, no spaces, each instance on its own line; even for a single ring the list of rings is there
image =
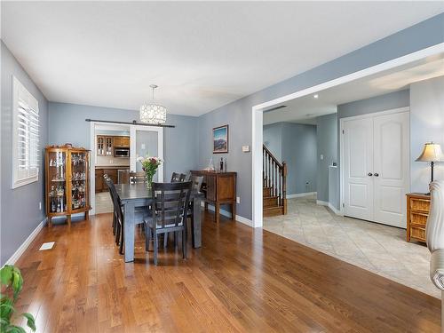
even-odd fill
[[[317,116],[336,113],[340,104],[405,90],[411,83],[442,75],[444,75],[444,53],[319,91],[316,93],[317,99],[311,94],[278,104],[274,107],[282,105],[286,107],[266,112],[264,124],[278,122],[315,124]]]

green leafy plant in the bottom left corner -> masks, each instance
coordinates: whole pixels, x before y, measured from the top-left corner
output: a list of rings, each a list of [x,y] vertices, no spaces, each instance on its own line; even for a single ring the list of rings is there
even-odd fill
[[[4,333],[25,333],[26,330],[20,326],[12,324],[16,310],[14,304],[17,301],[21,288],[23,287],[23,278],[20,269],[5,265],[0,269],[0,280],[2,292],[0,294],[0,331]],[[31,313],[21,313],[26,318],[27,326],[32,331],[36,331],[36,321]]]

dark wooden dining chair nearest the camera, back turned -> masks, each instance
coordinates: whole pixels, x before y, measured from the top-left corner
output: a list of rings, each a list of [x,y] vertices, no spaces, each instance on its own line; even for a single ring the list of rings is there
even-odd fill
[[[191,194],[191,181],[153,183],[151,217],[145,220],[148,250],[151,234],[154,238],[154,261],[157,265],[158,235],[182,233],[182,256],[186,258],[186,215]]]

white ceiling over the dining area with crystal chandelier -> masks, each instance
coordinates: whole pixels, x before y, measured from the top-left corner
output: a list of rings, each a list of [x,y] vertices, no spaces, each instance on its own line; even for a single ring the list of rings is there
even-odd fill
[[[202,115],[444,12],[444,2],[2,2],[52,101]]]

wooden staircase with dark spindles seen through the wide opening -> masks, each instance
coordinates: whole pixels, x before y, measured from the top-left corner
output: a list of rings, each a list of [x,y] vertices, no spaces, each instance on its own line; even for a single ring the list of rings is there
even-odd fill
[[[262,148],[264,217],[287,214],[287,164],[279,163],[266,146]]]

